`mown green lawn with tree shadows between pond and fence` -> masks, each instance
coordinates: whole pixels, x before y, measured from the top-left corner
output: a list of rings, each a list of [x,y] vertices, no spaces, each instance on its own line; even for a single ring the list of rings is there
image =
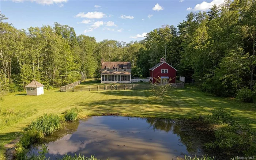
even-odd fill
[[[135,117],[193,118],[207,115],[214,108],[225,107],[242,121],[252,121],[256,129],[256,106],[237,102],[229,98],[219,98],[198,91],[195,87],[175,89],[163,103],[151,96],[147,90],[113,90],[59,92],[59,89],[45,91],[44,95],[26,96],[26,93],[9,94],[0,103],[1,110],[14,113],[28,113],[18,118],[16,123],[0,130],[1,158],[4,159],[4,145],[17,138],[17,133],[31,123],[32,119],[44,113],[61,114],[71,107],[82,109],[80,115],[121,114]],[[35,111],[36,110],[36,111]],[[31,114],[33,113],[33,114]],[[19,114],[18,114],[19,115]],[[17,116],[18,116],[17,115]]]

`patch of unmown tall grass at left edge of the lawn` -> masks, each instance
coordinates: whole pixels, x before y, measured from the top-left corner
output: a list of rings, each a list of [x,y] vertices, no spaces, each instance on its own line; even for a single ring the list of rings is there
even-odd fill
[[[26,111],[15,111],[13,108],[5,108],[4,110],[0,108],[0,129],[18,123],[19,121],[27,117],[30,117],[36,112],[36,109]]]

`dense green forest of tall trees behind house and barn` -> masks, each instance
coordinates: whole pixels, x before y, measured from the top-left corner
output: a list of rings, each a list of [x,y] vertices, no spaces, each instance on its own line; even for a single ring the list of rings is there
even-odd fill
[[[166,24],[129,43],[97,42],[59,23],[18,30],[7,19],[0,15],[2,93],[23,91],[33,79],[54,88],[97,78],[101,58],[132,62],[133,76],[147,77],[148,69],[166,57],[178,76],[218,96],[234,97],[255,87],[255,0],[226,0],[208,12],[190,12],[177,27]]]

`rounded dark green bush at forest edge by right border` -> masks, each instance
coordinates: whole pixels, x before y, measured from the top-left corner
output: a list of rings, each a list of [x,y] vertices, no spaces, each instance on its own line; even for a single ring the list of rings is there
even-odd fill
[[[253,102],[254,94],[255,93],[251,89],[244,87],[237,92],[236,99],[242,100],[244,102]]]

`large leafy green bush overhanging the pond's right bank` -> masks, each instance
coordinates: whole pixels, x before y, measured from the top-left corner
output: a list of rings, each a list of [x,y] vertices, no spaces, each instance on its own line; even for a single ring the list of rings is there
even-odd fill
[[[213,110],[212,115],[206,117],[206,121],[222,124],[223,127],[215,131],[216,140],[206,143],[206,148],[232,150],[246,156],[256,155],[256,133],[249,123],[241,123],[239,120],[223,108]]]

